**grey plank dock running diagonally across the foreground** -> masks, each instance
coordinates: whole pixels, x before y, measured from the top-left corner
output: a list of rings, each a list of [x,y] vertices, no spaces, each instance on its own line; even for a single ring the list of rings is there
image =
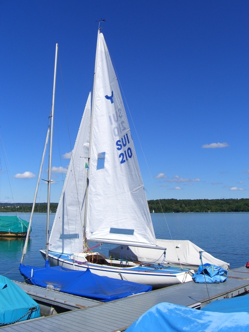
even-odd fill
[[[96,301],[95,304],[85,309],[76,309],[64,314],[40,318],[30,322],[26,321],[13,326],[2,327],[1,329],[8,332],[34,330],[42,332],[122,331],[145,311],[161,302],[169,302],[190,308],[204,307],[209,302],[207,288],[211,301],[246,293],[249,289],[249,269],[241,267],[229,271],[228,280],[222,284],[208,284],[206,286],[206,284],[188,282],[113,302],[100,304]],[[86,300],[82,299],[82,301]],[[87,303],[90,304],[90,302]]]

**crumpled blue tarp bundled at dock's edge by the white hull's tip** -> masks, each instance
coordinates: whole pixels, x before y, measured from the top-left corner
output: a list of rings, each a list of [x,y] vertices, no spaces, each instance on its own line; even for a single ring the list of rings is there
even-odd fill
[[[199,266],[198,271],[192,278],[195,283],[219,284],[228,279],[228,270],[225,270],[217,265],[206,263]]]

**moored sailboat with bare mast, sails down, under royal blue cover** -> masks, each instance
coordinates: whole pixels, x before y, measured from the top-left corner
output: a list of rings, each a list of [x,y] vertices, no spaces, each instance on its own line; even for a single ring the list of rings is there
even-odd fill
[[[48,240],[49,240],[49,215],[50,215],[50,187],[51,187],[51,162],[52,162],[52,141],[53,141],[53,118],[54,118],[54,100],[55,100],[55,84],[56,84],[56,69],[57,69],[57,55],[58,55],[58,44],[55,47],[55,65],[54,65],[54,83],[53,83],[53,97],[52,97],[52,109],[50,113],[50,124],[47,130],[47,136],[45,146],[43,150],[39,175],[37,178],[37,184],[33,199],[32,210],[30,214],[29,225],[27,229],[27,236],[25,244],[22,250],[21,261],[19,265],[19,271],[24,277],[26,283],[40,286],[44,288],[53,288],[57,291],[64,293],[84,296],[90,299],[98,301],[108,302],[135,294],[149,292],[152,286],[140,285],[125,280],[117,280],[109,277],[102,277],[93,274],[90,269],[82,271],[74,271],[61,266],[50,266],[48,260]],[[86,112],[87,114],[87,112]],[[84,124],[84,121],[83,121]],[[83,128],[85,126],[83,125]],[[48,193],[47,193],[47,223],[46,223],[46,252],[45,256],[45,267],[40,268],[36,266],[24,265],[23,259],[27,251],[28,236],[31,231],[32,215],[34,212],[35,201],[37,197],[39,181],[41,178],[42,166],[45,158],[45,152],[48,144],[50,135],[50,148],[49,148],[49,166],[48,166]],[[77,150],[77,149],[76,149]],[[73,168],[74,169],[74,168]]]

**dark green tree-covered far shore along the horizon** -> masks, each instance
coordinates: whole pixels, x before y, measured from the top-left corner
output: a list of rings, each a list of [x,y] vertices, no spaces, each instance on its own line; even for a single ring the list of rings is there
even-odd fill
[[[56,212],[58,203],[50,203]],[[249,212],[249,198],[229,199],[158,199],[148,200],[150,212]],[[0,212],[31,212],[32,203],[0,203]],[[46,212],[47,203],[36,203],[35,212]]]

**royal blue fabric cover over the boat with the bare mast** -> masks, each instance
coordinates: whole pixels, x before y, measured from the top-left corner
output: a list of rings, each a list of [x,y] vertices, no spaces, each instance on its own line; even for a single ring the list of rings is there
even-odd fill
[[[26,283],[103,302],[152,290],[151,286],[98,276],[89,269],[74,271],[61,266],[37,268],[21,264],[19,270]]]

